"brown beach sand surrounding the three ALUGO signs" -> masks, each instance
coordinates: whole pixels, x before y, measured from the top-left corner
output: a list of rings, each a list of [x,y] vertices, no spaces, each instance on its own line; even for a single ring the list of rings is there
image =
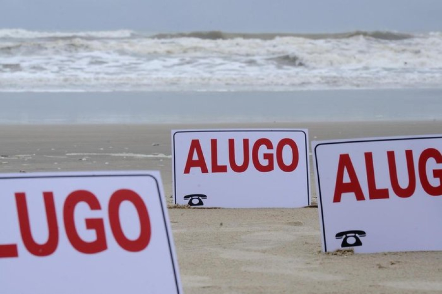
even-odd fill
[[[0,169],[160,170],[171,203],[170,130],[193,127],[308,128],[311,140],[442,133],[440,121],[0,126]],[[317,208],[169,214],[186,293],[442,293],[442,252],[320,253]]]

